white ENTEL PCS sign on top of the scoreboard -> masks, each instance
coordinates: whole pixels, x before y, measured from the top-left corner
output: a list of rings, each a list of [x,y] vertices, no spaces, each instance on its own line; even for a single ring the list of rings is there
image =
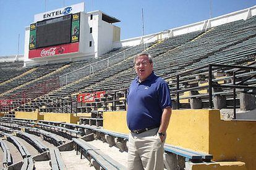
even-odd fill
[[[79,4],[74,4],[72,6],[62,7],[60,9],[50,10],[48,12],[36,14],[34,16],[34,22],[46,20],[49,18],[61,17],[63,15],[67,15],[67,14],[75,14],[78,12],[83,12],[85,10],[84,6],[85,6],[85,4],[84,4],[84,2],[82,2]]]

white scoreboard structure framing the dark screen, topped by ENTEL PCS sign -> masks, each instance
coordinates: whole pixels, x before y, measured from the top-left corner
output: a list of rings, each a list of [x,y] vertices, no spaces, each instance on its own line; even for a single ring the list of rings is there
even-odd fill
[[[63,15],[62,12],[69,8],[72,9],[70,10],[69,14],[75,14],[83,10],[83,7],[81,6],[84,6],[84,4],[81,3],[80,6],[78,5],[76,4],[74,6],[36,14],[35,22],[44,20],[44,17],[59,17]],[[75,6],[79,7],[79,9],[75,10]],[[72,13],[73,11],[74,13]],[[44,65],[48,63],[83,60],[105,54],[106,52],[113,49],[114,41],[120,41],[121,29],[112,24],[115,22],[120,21],[114,17],[110,17],[109,15],[104,14],[100,10],[88,13],[80,12],[80,32],[79,42],[77,42],[77,44],[79,44],[79,50],[76,52],[54,55],[54,49],[57,50],[56,46],[40,48],[39,50],[41,50],[41,56],[33,59],[29,57],[29,52],[31,50],[29,50],[30,26],[28,26],[25,28],[24,67],[31,65]],[[62,47],[65,47],[65,44]]]

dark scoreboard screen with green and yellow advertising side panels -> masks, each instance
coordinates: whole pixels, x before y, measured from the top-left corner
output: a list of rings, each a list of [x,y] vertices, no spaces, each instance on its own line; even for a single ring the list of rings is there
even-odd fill
[[[80,13],[32,23],[29,49],[79,42],[79,27]]]

